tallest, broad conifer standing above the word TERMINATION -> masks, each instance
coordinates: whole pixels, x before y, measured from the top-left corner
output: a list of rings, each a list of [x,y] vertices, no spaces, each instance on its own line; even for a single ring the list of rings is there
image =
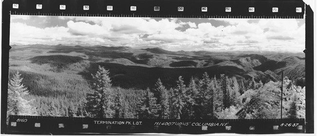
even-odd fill
[[[97,73],[92,77],[93,94],[87,94],[86,111],[91,117],[113,117],[113,96],[110,90],[112,84],[110,83],[109,70],[99,66]]]

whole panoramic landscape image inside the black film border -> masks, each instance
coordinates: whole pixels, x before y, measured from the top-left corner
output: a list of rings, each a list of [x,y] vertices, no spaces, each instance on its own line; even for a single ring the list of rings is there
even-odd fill
[[[11,15],[7,116],[305,118],[305,19]]]

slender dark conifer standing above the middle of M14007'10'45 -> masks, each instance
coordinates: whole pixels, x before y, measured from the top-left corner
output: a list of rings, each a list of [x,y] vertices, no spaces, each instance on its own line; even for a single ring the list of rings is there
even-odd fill
[[[180,119],[182,109],[184,107],[183,100],[185,92],[185,85],[183,78],[181,76],[178,77],[177,87],[174,89],[174,93],[172,96],[172,118]]]

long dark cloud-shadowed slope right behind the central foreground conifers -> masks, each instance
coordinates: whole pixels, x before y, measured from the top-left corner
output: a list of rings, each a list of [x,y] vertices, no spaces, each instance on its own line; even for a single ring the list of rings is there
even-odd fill
[[[123,88],[141,88],[153,86],[158,78],[162,80],[166,87],[172,87],[176,84],[175,80],[182,76],[188,82],[192,76],[198,78],[204,72],[207,72],[212,77],[214,75],[226,74],[228,76],[243,76],[243,69],[234,66],[211,66],[205,68],[162,68],[162,67],[141,67],[141,66],[125,66],[116,63],[92,63],[91,67],[86,69],[86,72],[80,73],[86,79],[91,80],[90,73],[95,73],[98,65],[109,69],[110,77],[114,86]]]

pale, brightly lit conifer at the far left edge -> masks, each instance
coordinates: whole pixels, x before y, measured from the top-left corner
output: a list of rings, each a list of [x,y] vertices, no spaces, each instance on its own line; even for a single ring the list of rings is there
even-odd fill
[[[17,71],[9,80],[7,115],[36,116],[38,115],[37,110],[30,104],[32,100],[25,99],[29,92],[21,83],[23,78],[20,78],[20,76],[19,71]]]

